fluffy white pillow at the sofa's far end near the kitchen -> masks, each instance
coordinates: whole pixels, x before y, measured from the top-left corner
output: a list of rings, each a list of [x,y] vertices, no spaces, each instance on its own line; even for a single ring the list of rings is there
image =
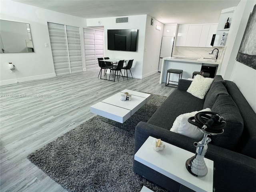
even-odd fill
[[[197,98],[204,99],[204,96],[210,89],[212,82],[213,78],[206,78],[201,75],[196,75],[187,92]]]

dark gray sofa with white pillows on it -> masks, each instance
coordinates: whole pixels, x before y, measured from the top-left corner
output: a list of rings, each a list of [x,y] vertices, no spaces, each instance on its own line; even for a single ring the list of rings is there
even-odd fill
[[[134,154],[149,136],[195,153],[192,138],[170,131],[176,117],[211,108],[227,121],[224,133],[211,136],[206,158],[214,161],[215,192],[256,192],[256,113],[236,84],[215,76],[204,100],[186,92],[191,81],[181,79],[178,88],[158,108],[148,122],[135,130]],[[185,162],[184,162],[185,166]],[[133,170],[148,180],[178,192],[180,184],[134,160]]]

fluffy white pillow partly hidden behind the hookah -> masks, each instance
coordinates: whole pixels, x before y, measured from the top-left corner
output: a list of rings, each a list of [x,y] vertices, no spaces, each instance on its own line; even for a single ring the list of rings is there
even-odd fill
[[[184,113],[179,115],[173,122],[170,131],[188,136],[195,140],[201,140],[204,134],[198,130],[198,128],[188,122],[188,118],[195,116],[198,112],[211,111],[210,108],[206,108],[200,111],[194,111],[190,113]]]

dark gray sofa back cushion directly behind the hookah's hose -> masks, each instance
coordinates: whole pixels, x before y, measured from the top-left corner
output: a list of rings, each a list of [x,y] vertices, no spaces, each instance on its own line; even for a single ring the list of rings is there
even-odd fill
[[[212,106],[212,112],[220,114],[227,124],[224,133],[211,136],[211,144],[234,150],[242,135],[244,121],[232,97],[230,95],[219,95]]]

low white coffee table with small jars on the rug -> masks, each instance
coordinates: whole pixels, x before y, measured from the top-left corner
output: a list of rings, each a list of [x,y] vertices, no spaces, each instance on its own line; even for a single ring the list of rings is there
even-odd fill
[[[124,92],[131,94],[132,100],[121,101],[121,94]],[[150,94],[125,89],[102,100],[101,102],[90,106],[90,112],[120,123],[124,123],[144,104],[146,104],[150,98]]]

